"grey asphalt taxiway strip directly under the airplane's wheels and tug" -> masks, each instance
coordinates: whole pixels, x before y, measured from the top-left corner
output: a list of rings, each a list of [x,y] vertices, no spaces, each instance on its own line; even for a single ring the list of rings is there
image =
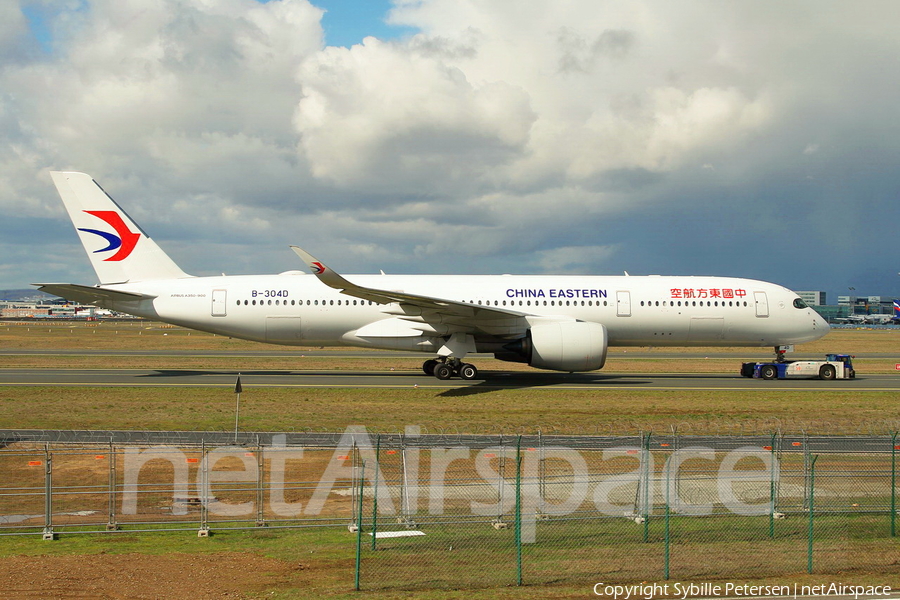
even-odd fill
[[[696,390],[778,393],[784,391],[900,392],[900,376],[860,376],[853,380],[763,381],[730,374],[493,372],[474,381],[439,381],[413,371],[252,370],[240,373],[247,388]],[[237,370],[216,369],[0,369],[0,386],[233,387]]]

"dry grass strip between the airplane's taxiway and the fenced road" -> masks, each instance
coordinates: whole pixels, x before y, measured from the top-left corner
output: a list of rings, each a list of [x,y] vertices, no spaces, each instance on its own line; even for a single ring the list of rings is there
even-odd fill
[[[246,431],[342,431],[348,425],[429,432],[692,434],[887,433],[900,428],[896,394],[855,391],[580,391],[542,389],[284,389],[245,384]],[[4,387],[0,428],[225,430],[228,388]]]

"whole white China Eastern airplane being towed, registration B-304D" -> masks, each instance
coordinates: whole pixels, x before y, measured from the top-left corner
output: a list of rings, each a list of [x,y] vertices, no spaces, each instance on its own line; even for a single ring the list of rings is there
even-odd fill
[[[772,346],[829,326],[794,292],[733,277],[352,275],[291,248],[312,274],[188,275],[89,175],[52,172],[99,284],[33,284],[69,300],[272,344],[431,355],[425,373],[478,378],[472,353],[561,372],[610,346]]]

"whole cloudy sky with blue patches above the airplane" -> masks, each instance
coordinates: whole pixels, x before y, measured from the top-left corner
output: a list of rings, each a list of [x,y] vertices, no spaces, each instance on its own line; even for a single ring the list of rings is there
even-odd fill
[[[49,170],[187,272],[900,294],[900,6],[5,0],[0,288],[94,283]]]

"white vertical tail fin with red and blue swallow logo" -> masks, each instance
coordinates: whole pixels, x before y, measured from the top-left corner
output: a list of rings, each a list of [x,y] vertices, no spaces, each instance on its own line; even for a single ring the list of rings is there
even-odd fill
[[[101,284],[190,277],[84,173],[50,173]]]

